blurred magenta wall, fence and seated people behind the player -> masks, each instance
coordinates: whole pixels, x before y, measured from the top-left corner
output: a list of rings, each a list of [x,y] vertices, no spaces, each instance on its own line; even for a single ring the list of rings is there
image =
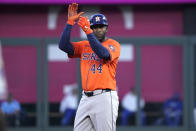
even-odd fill
[[[58,49],[72,2],[121,44],[117,131],[196,131],[196,0],[0,0],[0,131],[73,130],[80,61]]]

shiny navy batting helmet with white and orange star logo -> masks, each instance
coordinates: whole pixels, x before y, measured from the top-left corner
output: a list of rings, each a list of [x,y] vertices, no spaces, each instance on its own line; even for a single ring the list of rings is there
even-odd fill
[[[103,14],[95,14],[90,18],[90,26],[93,25],[105,25],[108,26],[108,21]]]

